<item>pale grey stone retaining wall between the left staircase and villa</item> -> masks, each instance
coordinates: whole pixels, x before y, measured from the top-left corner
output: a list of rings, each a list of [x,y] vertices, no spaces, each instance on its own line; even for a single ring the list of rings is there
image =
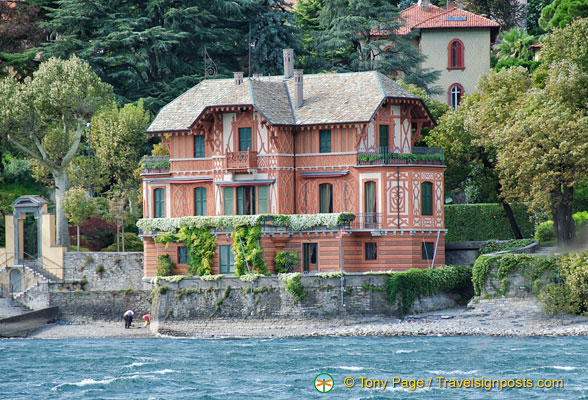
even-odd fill
[[[143,253],[68,252],[64,263],[64,280],[87,281],[85,290],[148,289],[142,281]]]

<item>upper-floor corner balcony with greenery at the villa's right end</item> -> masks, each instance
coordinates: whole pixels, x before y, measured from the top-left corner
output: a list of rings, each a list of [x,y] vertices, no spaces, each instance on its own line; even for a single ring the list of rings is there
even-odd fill
[[[412,153],[390,152],[387,147],[357,152],[357,165],[443,165],[445,154],[438,147],[413,147]]]

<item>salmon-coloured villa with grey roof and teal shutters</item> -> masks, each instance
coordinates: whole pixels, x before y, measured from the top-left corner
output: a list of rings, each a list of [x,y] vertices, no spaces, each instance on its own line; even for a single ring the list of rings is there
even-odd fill
[[[434,124],[423,101],[376,71],[303,75],[293,59],[284,76],[204,80],[159,112],[147,133],[170,156],[143,171],[144,219],[351,212],[345,271],[443,264],[443,152],[413,146]],[[214,233],[212,273],[232,273],[230,232]],[[270,272],[280,249],[299,272],[333,271],[339,234],[262,229],[260,244]],[[184,272],[185,247],[156,235],[142,232],[145,275],[162,254]]]

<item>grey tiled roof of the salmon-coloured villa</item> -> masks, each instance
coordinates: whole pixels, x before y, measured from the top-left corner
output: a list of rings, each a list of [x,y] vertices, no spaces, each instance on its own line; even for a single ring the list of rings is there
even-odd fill
[[[387,97],[416,99],[376,72],[304,75],[304,102],[293,107],[294,79],[282,76],[200,82],[161,109],[147,132],[188,130],[207,107],[251,105],[272,125],[315,125],[370,121]]]

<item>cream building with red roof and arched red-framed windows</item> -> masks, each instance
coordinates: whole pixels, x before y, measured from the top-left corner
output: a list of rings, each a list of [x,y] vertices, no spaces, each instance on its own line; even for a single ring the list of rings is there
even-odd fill
[[[400,34],[414,32],[422,54],[422,68],[441,71],[436,82],[443,93],[435,100],[457,107],[464,94],[476,91],[478,79],[490,71],[490,51],[500,25],[462,8],[463,2],[445,8],[419,1],[402,11]]]

